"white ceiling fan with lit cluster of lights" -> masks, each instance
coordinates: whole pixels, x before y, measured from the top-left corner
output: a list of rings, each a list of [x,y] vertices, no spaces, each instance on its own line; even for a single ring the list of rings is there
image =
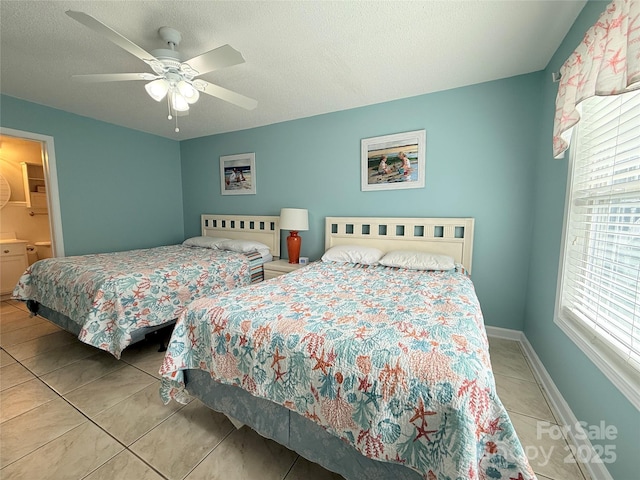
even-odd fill
[[[82,82],[148,81],[145,89],[151,98],[158,102],[164,98],[167,99],[169,111],[167,118],[169,120],[176,118],[176,132],[180,131],[177,117],[189,113],[189,105],[198,101],[199,92],[247,110],[253,110],[258,105],[258,102],[252,98],[196,78],[213,70],[244,63],[242,54],[229,45],[214,48],[190,60],[182,61],[180,53],[176,50],[182,35],[173,28],[161,27],[158,30],[160,38],[167,43],[168,48],[152,50],[149,53],[89,14],[73,10],[67,10],[66,14],[139,58],[154,72],[73,75],[72,78]]]

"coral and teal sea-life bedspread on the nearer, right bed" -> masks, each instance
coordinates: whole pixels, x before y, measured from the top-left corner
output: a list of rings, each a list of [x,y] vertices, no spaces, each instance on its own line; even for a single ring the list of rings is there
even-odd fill
[[[178,319],[161,396],[199,369],[425,479],[535,478],[496,394],[480,305],[460,270],[313,263]]]

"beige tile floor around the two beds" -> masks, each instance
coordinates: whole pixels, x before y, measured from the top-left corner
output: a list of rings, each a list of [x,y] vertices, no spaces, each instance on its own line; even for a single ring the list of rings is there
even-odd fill
[[[163,405],[156,344],[132,346],[118,361],[30,318],[20,302],[0,309],[3,480],[342,478],[249,428],[236,430],[198,400]],[[538,478],[590,480],[565,461],[564,440],[537,434],[537,422],[556,417],[520,345],[491,338],[490,353],[498,394]]]

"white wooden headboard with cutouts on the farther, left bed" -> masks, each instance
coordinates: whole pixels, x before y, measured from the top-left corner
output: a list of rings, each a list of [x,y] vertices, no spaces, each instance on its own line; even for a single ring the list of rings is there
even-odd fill
[[[274,257],[280,256],[279,216],[203,214],[201,223],[203,236],[254,240],[268,245]]]

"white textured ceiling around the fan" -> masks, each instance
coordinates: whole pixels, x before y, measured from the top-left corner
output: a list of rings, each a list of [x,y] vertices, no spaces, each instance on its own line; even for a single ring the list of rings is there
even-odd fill
[[[581,1],[0,1],[0,91],[174,139],[269,125],[541,70]],[[258,101],[201,95],[180,133],[145,82],[73,74],[151,72],[65,15],[86,12],[150,51],[161,26],[189,59],[224,44],[246,63],[202,78]]]

